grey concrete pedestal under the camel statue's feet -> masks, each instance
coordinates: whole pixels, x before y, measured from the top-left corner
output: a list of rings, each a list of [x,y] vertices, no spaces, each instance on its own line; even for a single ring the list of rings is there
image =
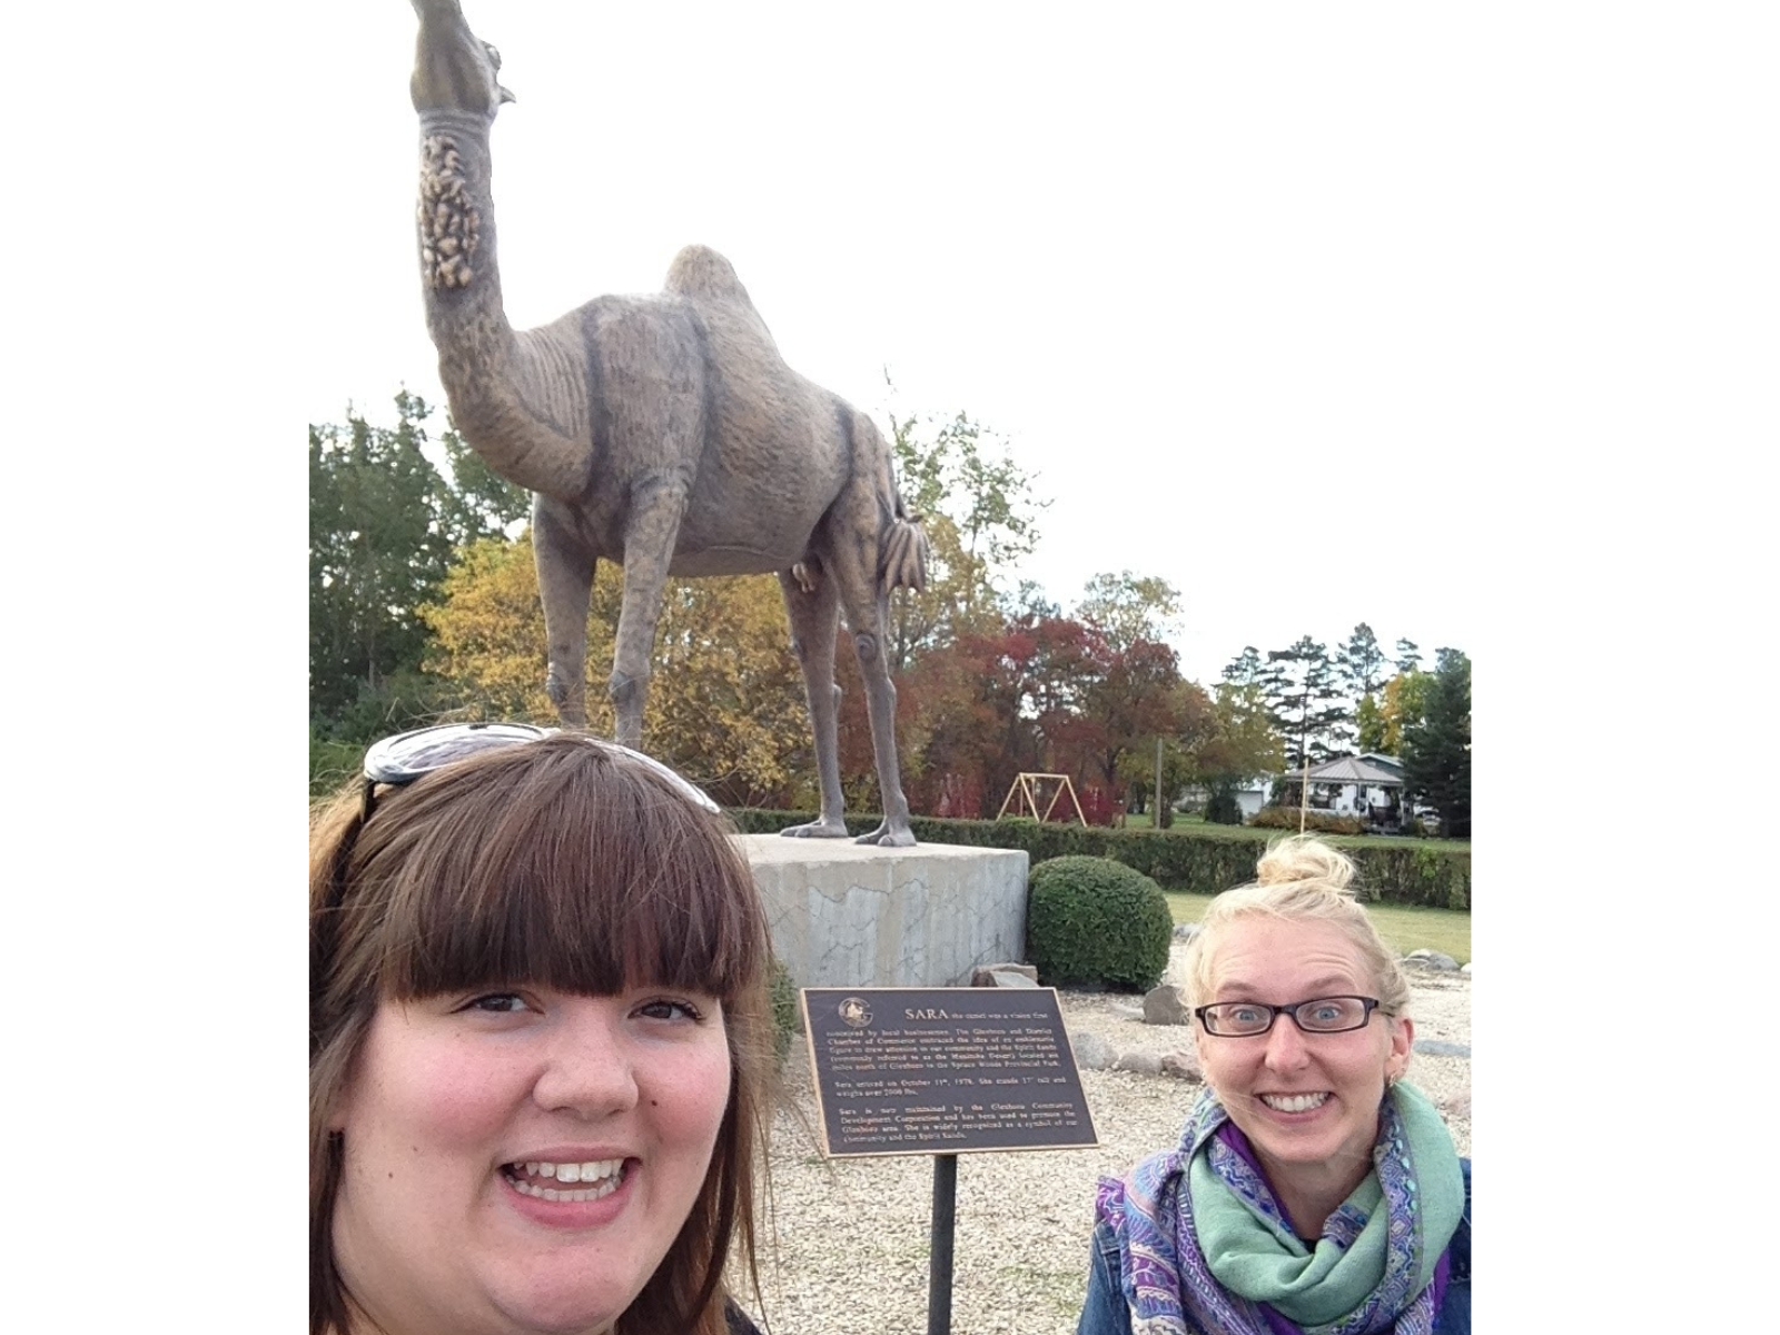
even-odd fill
[[[951,988],[1025,959],[1018,849],[740,835],[773,949],[799,988]]]

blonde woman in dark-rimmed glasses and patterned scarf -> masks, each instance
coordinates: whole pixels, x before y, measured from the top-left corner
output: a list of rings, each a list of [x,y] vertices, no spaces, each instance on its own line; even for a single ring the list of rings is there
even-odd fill
[[[1415,1022],[1353,863],[1298,837],[1185,952],[1205,1091],[1104,1178],[1077,1335],[1468,1335],[1470,1162],[1403,1073]]]

